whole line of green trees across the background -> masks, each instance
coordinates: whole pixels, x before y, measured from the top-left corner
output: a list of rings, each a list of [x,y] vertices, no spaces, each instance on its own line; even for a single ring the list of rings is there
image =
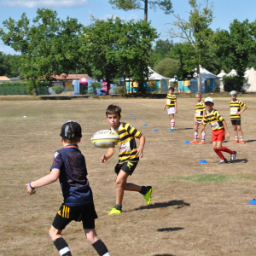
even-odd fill
[[[116,79],[139,82],[148,77],[148,66],[163,76],[177,79],[192,78],[195,68],[206,67],[212,73],[236,69],[236,90],[241,89],[243,73],[256,62],[256,22],[234,20],[230,30],[212,31],[213,5],[189,0],[189,20],[183,20],[172,10],[171,1],[109,0],[113,8],[143,9],[144,20],[125,21],[119,18],[94,20],[84,26],[77,19],[58,18],[56,11],[38,9],[37,16],[28,20],[5,20],[0,28],[3,44],[20,55],[0,52],[0,75],[28,79],[37,94],[39,81],[52,81],[54,74],[87,73],[95,79],[104,79],[108,87]],[[159,34],[147,22],[149,8],[159,7],[174,15],[170,39],[157,40]],[[173,43],[173,38],[180,38]],[[155,45],[153,47],[153,42]],[[201,90],[200,76],[198,90]]]

